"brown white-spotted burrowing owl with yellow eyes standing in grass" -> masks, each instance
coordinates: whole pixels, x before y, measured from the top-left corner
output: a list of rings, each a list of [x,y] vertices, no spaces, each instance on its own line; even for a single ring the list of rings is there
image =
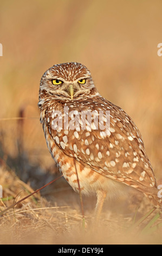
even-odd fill
[[[97,218],[106,194],[116,197],[127,186],[160,205],[137,126],[124,110],[99,94],[86,66],[71,62],[49,68],[41,78],[38,107],[51,156],[75,191],[80,185],[82,193],[96,193]],[[92,111],[91,120],[85,119],[83,125],[81,114]],[[97,120],[100,111],[102,119]],[[104,130],[101,123],[109,125]]]

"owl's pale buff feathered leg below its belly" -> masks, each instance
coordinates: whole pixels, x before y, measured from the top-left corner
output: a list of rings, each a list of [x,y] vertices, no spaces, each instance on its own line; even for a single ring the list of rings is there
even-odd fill
[[[97,195],[97,203],[96,203],[96,207],[95,207],[95,222],[96,222],[96,224],[99,222],[99,218],[100,218],[100,214],[102,211],[103,203],[106,198],[106,194],[107,194],[107,192],[103,191],[103,190],[98,190],[98,192],[96,192],[96,195]]]

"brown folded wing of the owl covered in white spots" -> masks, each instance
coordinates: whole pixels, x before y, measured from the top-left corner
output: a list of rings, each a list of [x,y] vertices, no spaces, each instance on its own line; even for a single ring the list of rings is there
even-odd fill
[[[59,102],[54,111],[63,112]],[[53,129],[54,111],[47,113],[49,132],[55,143],[65,154],[113,180],[154,194],[155,177],[151,163],[145,153],[141,135],[132,119],[118,106],[97,96],[94,99],[67,102],[68,126],[66,129]],[[82,121],[77,115],[81,111],[109,111],[110,127],[106,132],[100,127],[94,130],[96,122],[86,123],[88,129],[70,129],[70,121]],[[70,111],[74,111],[70,115]],[[77,117],[76,117],[77,116]],[[104,115],[105,117],[105,115]],[[75,119],[76,118],[76,119]],[[60,118],[61,119],[61,118]]]

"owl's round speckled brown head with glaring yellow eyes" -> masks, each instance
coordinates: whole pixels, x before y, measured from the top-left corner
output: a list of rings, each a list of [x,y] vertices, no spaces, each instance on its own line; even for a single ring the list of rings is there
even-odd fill
[[[52,97],[54,100],[78,100],[82,97],[99,95],[90,71],[76,63],[62,63],[49,68],[40,83],[40,100]]]

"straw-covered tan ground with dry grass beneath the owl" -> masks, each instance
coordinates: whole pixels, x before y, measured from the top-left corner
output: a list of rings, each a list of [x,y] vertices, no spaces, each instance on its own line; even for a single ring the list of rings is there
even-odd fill
[[[29,184],[21,181],[14,172],[6,168],[3,166],[0,169],[0,182],[4,185],[3,201],[0,202],[1,211],[34,191]],[[141,194],[129,194],[129,197],[120,198],[116,202],[106,201],[97,225],[94,223],[95,200],[94,196],[83,197],[85,211],[83,228],[79,195],[61,178],[0,217],[0,243],[55,245],[161,243],[161,228],[151,234],[141,232],[155,212],[138,227],[132,226],[137,208],[135,221],[152,208],[148,199]],[[160,222],[159,218],[154,225]]]

